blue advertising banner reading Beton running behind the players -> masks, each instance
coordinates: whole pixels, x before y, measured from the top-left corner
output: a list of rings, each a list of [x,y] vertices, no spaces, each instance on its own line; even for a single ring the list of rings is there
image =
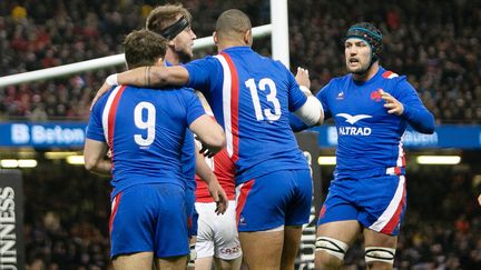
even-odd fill
[[[85,141],[85,122],[10,122],[0,123],[0,147],[81,148]],[[337,146],[334,126],[321,126],[311,130],[318,132],[321,147]],[[408,129],[403,137],[405,148],[459,148],[481,149],[481,126],[438,126],[433,134],[422,134]]]

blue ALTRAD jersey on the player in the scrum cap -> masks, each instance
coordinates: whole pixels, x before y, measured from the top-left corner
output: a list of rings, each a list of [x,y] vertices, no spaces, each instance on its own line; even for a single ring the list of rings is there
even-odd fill
[[[389,92],[403,103],[401,117],[387,113],[379,90]],[[337,130],[337,166],[335,177],[369,177],[392,168],[404,174],[404,152],[401,137],[408,123],[416,131],[432,133],[434,118],[422,104],[405,76],[380,67],[365,82],[352,74],[334,78],[318,93],[325,118],[333,118]],[[293,120],[293,119],[292,119]],[[294,130],[305,129],[298,120]]]

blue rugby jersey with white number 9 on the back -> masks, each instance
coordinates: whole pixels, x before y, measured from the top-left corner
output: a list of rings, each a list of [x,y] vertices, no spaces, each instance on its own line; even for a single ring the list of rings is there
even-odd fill
[[[94,106],[87,138],[112,153],[112,198],[140,183],[185,187],[180,153],[188,126],[205,110],[189,89],[153,91],[119,86]]]

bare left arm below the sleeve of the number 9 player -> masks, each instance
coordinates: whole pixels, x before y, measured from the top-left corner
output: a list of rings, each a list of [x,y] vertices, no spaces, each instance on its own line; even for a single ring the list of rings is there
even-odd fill
[[[91,172],[110,176],[111,161],[104,159],[107,150],[107,143],[86,139],[86,143],[84,146],[84,159],[86,169]]]

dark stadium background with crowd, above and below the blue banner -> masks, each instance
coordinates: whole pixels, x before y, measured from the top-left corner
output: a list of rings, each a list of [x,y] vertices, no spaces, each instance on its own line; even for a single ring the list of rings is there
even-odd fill
[[[0,1],[0,77],[121,53],[126,33],[143,27],[150,8],[164,1]],[[197,37],[212,33],[216,17],[244,10],[253,26],[269,23],[269,2],[188,0]],[[366,20],[384,33],[381,64],[409,76],[439,127],[481,130],[481,1],[288,1],[292,70],[310,70],[313,89],[343,74],[341,39],[346,27]],[[254,49],[269,56],[268,37]],[[196,57],[214,49],[197,51]],[[122,67],[0,88],[0,123],[85,123],[104,78]],[[3,131],[2,131],[3,132]],[[461,132],[461,131],[460,131]],[[4,133],[1,134],[7,136]],[[3,144],[3,143],[0,143]],[[79,147],[0,148],[1,159],[36,159],[21,169],[24,261],[29,269],[108,269],[108,178],[88,173],[46,152]],[[333,156],[323,147],[321,156]],[[406,149],[408,211],[394,267],[397,269],[481,269],[481,137],[463,148]],[[458,154],[459,164],[421,166],[421,154]],[[316,164],[315,160],[313,161]],[[321,167],[322,194],[333,166]],[[317,179],[317,181],[321,181]],[[364,269],[360,242],[346,269]]]

